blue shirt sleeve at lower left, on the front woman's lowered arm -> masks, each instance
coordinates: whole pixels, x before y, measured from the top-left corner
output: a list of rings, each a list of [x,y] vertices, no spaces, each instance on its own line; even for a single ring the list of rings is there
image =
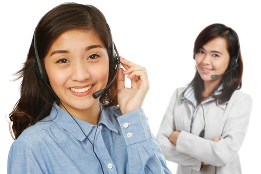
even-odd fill
[[[17,139],[13,142],[7,162],[7,174],[43,174],[45,173],[37,160],[37,154],[27,139]]]

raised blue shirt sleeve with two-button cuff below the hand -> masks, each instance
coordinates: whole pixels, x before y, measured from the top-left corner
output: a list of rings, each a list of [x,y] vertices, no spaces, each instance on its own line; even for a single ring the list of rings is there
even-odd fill
[[[171,174],[150,131],[143,109],[137,109],[117,119],[127,145],[126,174]]]

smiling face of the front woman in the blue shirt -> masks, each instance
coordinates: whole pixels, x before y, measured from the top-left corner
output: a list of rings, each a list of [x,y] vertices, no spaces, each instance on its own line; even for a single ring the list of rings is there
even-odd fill
[[[92,93],[106,87],[109,58],[95,31],[63,32],[52,43],[44,65],[52,89],[72,114],[99,108]]]

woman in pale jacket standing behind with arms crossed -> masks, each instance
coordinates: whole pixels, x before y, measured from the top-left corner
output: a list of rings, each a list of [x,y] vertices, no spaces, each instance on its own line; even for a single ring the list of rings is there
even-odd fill
[[[194,44],[196,73],[174,91],[156,137],[177,174],[242,174],[239,149],[252,98],[240,90],[243,63],[236,32],[204,28]]]

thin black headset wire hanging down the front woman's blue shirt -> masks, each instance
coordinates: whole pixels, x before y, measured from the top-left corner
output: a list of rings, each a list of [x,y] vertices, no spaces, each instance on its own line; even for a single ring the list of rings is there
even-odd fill
[[[59,99],[59,98],[56,96],[56,94],[54,93],[53,89],[52,89],[45,81],[44,81],[44,83],[47,85],[47,87],[48,87],[48,88],[51,90],[51,92],[54,94],[54,96],[56,97],[56,99],[57,99],[58,101],[60,101],[60,99]],[[85,137],[87,138],[87,140],[88,140],[88,141],[90,142],[90,144],[92,145],[92,151],[93,151],[93,153],[94,153],[96,159],[98,160],[98,162],[99,162],[99,164],[100,164],[100,168],[101,168],[101,170],[102,170],[102,174],[104,174],[104,170],[103,170],[103,167],[102,167],[102,165],[101,165],[100,159],[98,158],[98,156],[97,156],[97,154],[96,154],[96,152],[95,152],[95,150],[94,150],[94,141],[95,141],[95,136],[96,136],[96,132],[97,132],[97,129],[98,129],[98,125],[97,125],[97,128],[96,128],[96,130],[95,130],[95,134],[94,134],[94,138],[93,138],[93,144],[92,144],[91,141],[89,140],[89,138],[87,137],[87,135],[85,134],[84,130],[83,130],[82,127],[79,125],[79,123],[75,120],[75,118],[72,116],[72,114],[67,110],[67,108],[63,105],[62,102],[60,102],[60,103],[61,103],[62,106],[65,108],[65,110],[69,113],[69,115],[74,119],[74,121],[75,121],[76,124],[79,126],[79,128],[81,129],[81,131],[83,132],[83,134],[85,135]],[[102,107],[102,109],[101,109],[101,111],[100,111],[99,116],[101,115],[102,111],[103,111],[103,107]]]

